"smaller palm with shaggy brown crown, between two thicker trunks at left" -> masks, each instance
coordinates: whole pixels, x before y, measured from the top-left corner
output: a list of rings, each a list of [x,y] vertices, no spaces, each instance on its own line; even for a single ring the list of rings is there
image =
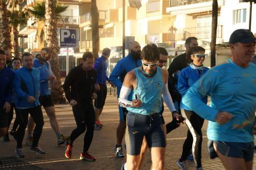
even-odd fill
[[[12,26],[13,30],[13,47],[15,52],[15,57],[19,57],[20,53],[18,51],[19,44],[18,44],[18,26],[20,24],[26,24],[27,18],[25,13],[22,11],[8,11],[9,14],[9,23]]]

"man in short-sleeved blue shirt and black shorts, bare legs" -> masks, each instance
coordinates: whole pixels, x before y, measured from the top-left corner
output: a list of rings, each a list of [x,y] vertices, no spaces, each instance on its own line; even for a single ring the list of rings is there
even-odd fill
[[[60,131],[59,124],[57,122],[54,101],[52,101],[51,91],[49,89],[49,81],[53,84],[57,84],[56,77],[51,71],[51,66],[49,60],[52,57],[52,49],[49,47],[44,47],[41,49],[41,55],[35,58],[33,61],[33,66],[38,68],[40,71],[40,97],[39,102],[41,106],[45,108],[46,114],[50,119],[51,127],[57,136],[57,145],[63,144],[67,139]],[[26,144],[31,146],[33,137],[32,131],[35,126],[35,122],[30,117],[27,126],[27,140]]]

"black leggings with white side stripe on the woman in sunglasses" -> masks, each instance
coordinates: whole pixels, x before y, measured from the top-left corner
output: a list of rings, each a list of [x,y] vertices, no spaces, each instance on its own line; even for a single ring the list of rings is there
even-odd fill
[[[201,164],[201,150],[202,150],[202,125],[204,124],[203,118],[198,116],[193,111],[185,110],[186,125],[189,128],[187,131],[187,138],[183,143],[183,151],[181,155],[181,161],[185,161],[192,148],[192,155],[197,168],[202,166]]]

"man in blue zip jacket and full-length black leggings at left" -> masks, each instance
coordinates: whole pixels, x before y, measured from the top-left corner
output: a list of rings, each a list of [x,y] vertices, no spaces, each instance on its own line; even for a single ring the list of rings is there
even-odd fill
[[[13,90],[16,95],[15,106],[17,108],[17,120],[19,123],[15,139],[17,141],[17,158],[23,158],[22,141],[27,127],[28,113],[36,123],[33,131],[31,151],[37,154],[45,154],[39,147],[38,141],[44,126],[44,117],[38,100],[40,93],[40,71],[33,67],[33,56],[30,53],[22,54],[23,67],[15,72]]]

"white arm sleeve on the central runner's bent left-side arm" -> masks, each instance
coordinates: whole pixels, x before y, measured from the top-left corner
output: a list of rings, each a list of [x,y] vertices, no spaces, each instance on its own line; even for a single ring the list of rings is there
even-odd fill
[[[131,93],[131,91],[132,91],[131,88],[122,86],[122,88],[120,90],[119,98],[117,100],[118,105],[120,107],[125,107],[125,108],[132,107],[132,102],[128,101],[128,96]]]

